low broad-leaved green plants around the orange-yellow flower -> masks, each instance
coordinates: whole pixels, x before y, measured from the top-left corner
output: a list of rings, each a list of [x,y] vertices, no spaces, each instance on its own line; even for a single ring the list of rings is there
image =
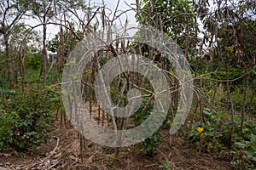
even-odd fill
[[[196,148],[208,153],[219,154],[219,156],[224,150],[231,149],[234,156],[233,160],[235,160],[233,161],[234,165],[236,164],[237,167],[255,167],[256,136],[254,134],[255,125],[253,121],[245,121],[243,130],[239,133],[240,127],[238,125],[241,122],[241,118],[235,116],[235,133],[232,133],[230,114],[220,111],[214,112],[207,108],[203,113],[206,123],[193,123],[189,137],[195,143]],[[201,133],[198,132],[198,127],[203,127]],[[233,141],[231,140],[232,135],[234,135]]]

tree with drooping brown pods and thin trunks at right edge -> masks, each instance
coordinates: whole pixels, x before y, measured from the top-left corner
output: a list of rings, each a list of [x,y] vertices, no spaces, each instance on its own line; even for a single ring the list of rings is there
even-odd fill
[[[218,20],[215,21],[218,24],[217,31],[211,32],[212,36],[217,37],[212,59],[212,63],[215,66],[213,69],[216,69],[218,66],[226,71],[226,88],[231,106],[233,132],[235,128],[235,109],[233,99],[231,98],[231,82],[229,80],[241,77],[237,81],[232,82],[238,86],[241,86],[241,80],[246,82],[241,106],[241,133],[246,110],[248,84],[251,71],[253,71],[253,66],[255,65],[256,6],[251,1],[218,2],[218,6],[222,10],[218,9],[215,11],[215,15],[218,16]],[[207,25],[207,27],[210,26],[210,24]],[[224,61],[224,65],[221,65],[221,61]],[[221,71],[219,73],[221,74]],[[245,76],[243,77],[243,75]],[[255,76],[253,77],[255,78]]]

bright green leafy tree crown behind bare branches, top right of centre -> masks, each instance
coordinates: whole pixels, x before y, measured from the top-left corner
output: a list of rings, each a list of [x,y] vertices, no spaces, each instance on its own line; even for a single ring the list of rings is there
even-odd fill
[[[160,21],[155,22],[157,16],[160,16],[162,29],[168,36],[177,37],[177,44],[181,48],[185,47],[185,41],[188,36],[195,37],[196,20],[192,1],[189,0],[155,0],[154,3],[143,0],[142,9],[137,14],[137,22],[145,26],[160,25]],[[151,5],[154,7],[151,7]],[[153,10],[153,11],[151,11]],[[158,19],[157,19],[158,20]],[[185,31],[186,30],[186,31]],[[187,35],[189,33],[189,35]],[[175,36],[174,36],[175,35]],[[195,51],[189,48],[189,53],[195,54]]]

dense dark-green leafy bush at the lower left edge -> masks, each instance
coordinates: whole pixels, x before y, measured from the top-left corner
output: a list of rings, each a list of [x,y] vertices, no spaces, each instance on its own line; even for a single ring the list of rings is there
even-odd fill
[[[1,90],[0,150],[26,151],[43,143],[59,102],[49,89]]]

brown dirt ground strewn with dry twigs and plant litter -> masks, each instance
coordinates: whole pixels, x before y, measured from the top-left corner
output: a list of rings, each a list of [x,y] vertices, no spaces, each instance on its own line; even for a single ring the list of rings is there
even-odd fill
[[[52,138],[26,154],[0,153],[0,170],[3,169],[231,169],[230,162],[218,161],[215,156],[195,150],[175,137],[170,142],[166,132],[165,140],[156,156],[143,155],[141,150],[122,148],[119,160],[113,160],[114,149],[87,141],[81,156],[79,135],[72,127],[60,127],[53,122]],[[81,159],[83,157],[83,160]],[[166,162],[169,167],[160,167]]]

